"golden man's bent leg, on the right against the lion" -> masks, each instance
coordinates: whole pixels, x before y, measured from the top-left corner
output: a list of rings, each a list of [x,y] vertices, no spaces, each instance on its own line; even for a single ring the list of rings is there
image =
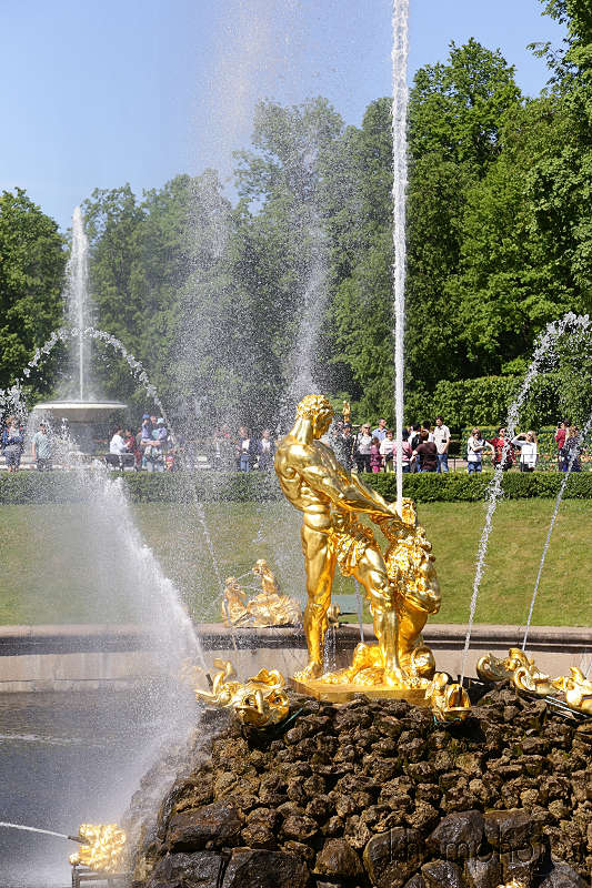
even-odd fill
[[[353,568],[353,576],[365,588],[374,617],[374,634],[379,640],[382,663],[393,678],[401,675],[398,654],[399,620],[395,589],[388,575],[378,547],[369,546]]]

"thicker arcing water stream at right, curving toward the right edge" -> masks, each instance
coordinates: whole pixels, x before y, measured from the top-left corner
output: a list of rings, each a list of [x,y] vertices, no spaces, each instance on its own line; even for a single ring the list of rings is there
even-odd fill
[[[485,515],[485,523],[483,526],[483,532],[481,534],[481,539],[479,542],[479,549],[478,549],[478,557],[476,557],[476,567],[475,567],[475,576],[473,581],[473,593],[471,596],[471,605],[470,605],[470,613],[469,613],[469,623],[466,626],[466,635],[464,638],[464,648],[462,652],[462,667],[461,667],[461,683],[464,678],[464,674],[466,670],[466,662],[469,656],[469,645],[471,642],[471,632],[473,628],[474,623],[474,615],[476,610],[476,602],[479,598],[479,589],[481,587],[481,581],[483,579],[483,572],[485,568],[485,557],[488,554],[488,544],[489,537],[491,534],[491,527],[493,522],[493,515],[495,514],[495,508],[498,506],[498,501],[502,494],[502,482],[503,482],[503,470],[502,465],[506,460],[506,456],[510,452],[511,442],[514,437],[515,427],[518,424],[518,418],[520,414],[520,408],[524,403],[524,400],[530,391],[532,381],[538,375],[541,364],[546,357],[548,353],[555,344],[558,339],[564,335],[566,332],[571,330],[580,330],[582,332],[586,332],[590,329],[590,317],[588,314],[584,315],[575,315],[573,312],[569,312],[565,314],[560,321],[554,321],[546,325],[544,333],[539,336],[536,347],[534,350],[534,355],[532,362],[529,366],[526,375],[524,376],[524,381],[520,389],[516,400],[510,407],[508,412],[508,420],[505,423],[505,444],[502,453],[502,458],[500,464],[496,466],[495,472],[493,474],[493,480],[489,485],[488,488],[488,511]]]

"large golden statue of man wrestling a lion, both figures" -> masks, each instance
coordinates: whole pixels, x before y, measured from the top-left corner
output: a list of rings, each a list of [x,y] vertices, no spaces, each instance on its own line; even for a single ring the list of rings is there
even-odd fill
[[[333,411],[323,395],[308,395],[297,422],[275,452],[275,472],[289,502],[303,513],[302,548],[308,604],[304,632],[309,662],[294,679],[308,684],[322,674],[323,640],[335,567],[365,589],[378,646],[359,645],[353,664],[323,676],[325,684],[382,685],[423,690],[434,674],[431,650],[421,639],[428,614],[440,607],[440,589],[431,546],[418,527],[411,501],[399,515],[379,493],[367,487],[337,460],[320,438]],[[387,536],[383,557],[367,516]]]

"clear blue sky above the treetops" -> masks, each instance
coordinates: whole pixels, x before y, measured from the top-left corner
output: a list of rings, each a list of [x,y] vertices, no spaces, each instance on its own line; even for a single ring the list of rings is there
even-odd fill
[[[410,77],[451,40],[500,48],[534,95],[526,44],[562,30],[539,0],[411,0]],[[391,92],[391,0],[0,0],[0,189],[26,188],[66,229],[93,188],[141,193],[218,169],[260,98],[325,95],[359,124]]]

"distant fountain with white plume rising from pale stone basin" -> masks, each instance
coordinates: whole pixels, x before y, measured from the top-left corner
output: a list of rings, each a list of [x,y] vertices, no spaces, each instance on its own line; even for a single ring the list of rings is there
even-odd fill
[[[69,343],[70,379],[62,384],[63,397],[36,404],[33,422],[49,420],[53,427],[66,421],[78,448],[92,453],[96,437],[108,434],[108,423],[126,410],[119,401],[102,401],[97,397],[90,381],[90,337],[86,331],[92,327],[92,301],[89,293],[89,241],[84,233],[84,220],[80,206],[72,214],[72,248],[66,274],[64,303],[72,339]],[[71,396],[67,396],[70,395]]]

